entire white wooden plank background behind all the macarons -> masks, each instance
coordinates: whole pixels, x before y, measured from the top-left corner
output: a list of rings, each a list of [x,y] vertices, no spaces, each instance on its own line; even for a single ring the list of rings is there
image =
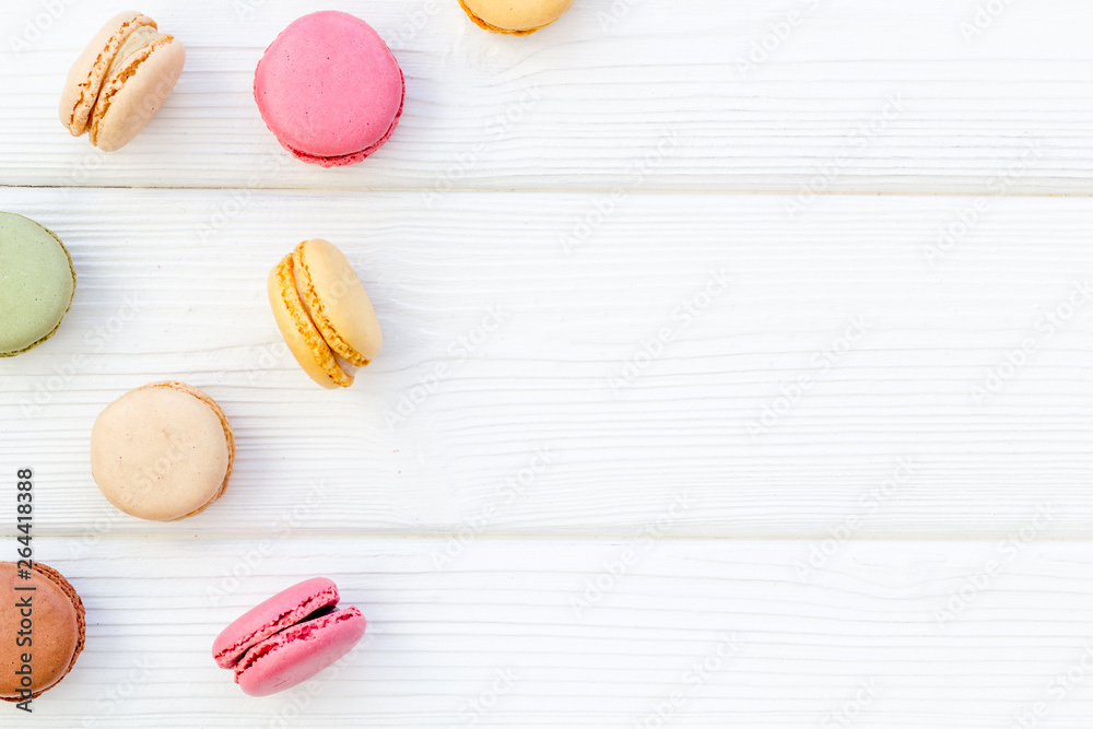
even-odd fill
[[[187,68],[110,155],[55,109],[120,7],[0,8],[0,209],[80,273],[0,362],[0,515],[32,467],[37,556],[89,610],[75,671],[2,726],[1088,729],[1088,3],[577,0],[504,38],[455,0],[343,0],[408,97],[325,171],[250,83],[329,4],[146,0]],[[313,236],[384,326],[348,391],[266,302]],[[169,525],[87,458],[164,378],[238,443]],[[213,637],[317,574],[367,645],[244,696]]]

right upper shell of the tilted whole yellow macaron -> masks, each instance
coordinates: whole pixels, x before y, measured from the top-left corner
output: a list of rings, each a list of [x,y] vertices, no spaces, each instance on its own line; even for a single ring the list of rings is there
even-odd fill
[[[296,287],[327,344],[352,364],[366,366],[379,354],[384,334],[372,299],[345,254],[314,238],[296,247],[293,263]]]

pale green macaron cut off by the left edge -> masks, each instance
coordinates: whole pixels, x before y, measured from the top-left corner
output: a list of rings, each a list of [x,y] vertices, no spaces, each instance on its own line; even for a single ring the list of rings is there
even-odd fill
[[[0,357],[52,337],[74,295],[75,268],[60,238],[30,217],[0,212]]]

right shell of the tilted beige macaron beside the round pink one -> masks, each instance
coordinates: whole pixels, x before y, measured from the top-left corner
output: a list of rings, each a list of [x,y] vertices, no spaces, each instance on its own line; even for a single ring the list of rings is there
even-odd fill
[[[186,64],[186,48],[169,35],[126,59],[103,86],[89,131],[91,143],[106,152],[120,150],[158,113]]]

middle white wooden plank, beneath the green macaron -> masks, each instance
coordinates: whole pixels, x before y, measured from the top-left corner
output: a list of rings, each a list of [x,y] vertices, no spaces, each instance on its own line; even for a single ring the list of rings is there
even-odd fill
[[[969,199],[790,221],[779,197],[633,196],[566,252],[597,196],[255,192],[203,227],[236,195],[3,193],[81,277],[57,337],[4,362],[0,472],[36,469],[44,531],[257,531],[313,495],[320,534],[624,538],[682,495],[673,536],[995,539],[1041,505],[1046,536],[1090,536],[1089,200],[995,199],[931,263]],[[266,301],[318,235],[385,331],[346,391]],[[174,525],[118,515],[87,456],[98,412],[164,378],[238,443],[223,501]]]

